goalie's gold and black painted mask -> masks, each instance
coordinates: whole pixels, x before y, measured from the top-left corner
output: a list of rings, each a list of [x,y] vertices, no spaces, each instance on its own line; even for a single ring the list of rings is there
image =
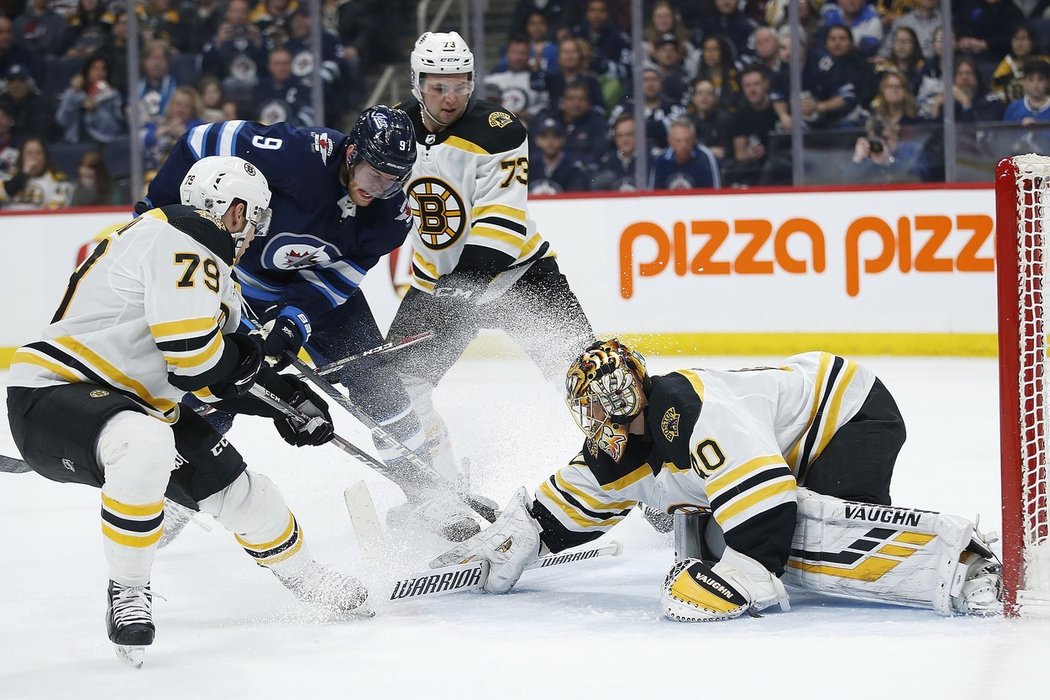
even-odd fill
[[[587,440],[618,462],[648,387],[645,358],[612,338],[592,344],[569,365],[565,401]]]

